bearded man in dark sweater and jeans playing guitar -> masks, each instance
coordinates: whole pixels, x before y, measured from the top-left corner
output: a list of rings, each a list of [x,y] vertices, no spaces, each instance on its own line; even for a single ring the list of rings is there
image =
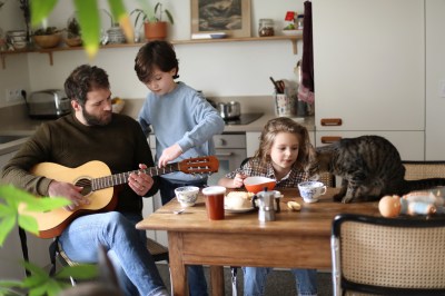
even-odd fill
[[[72,201],[66,210],[73,210],[88,204],[82,187],[34,176],[29,172],[33,166],[50,161],[76,168],[100,160],[111,174],[118,174],[154,166],[154,160],[139,124],[111,112],[110,85],[102,69],[78,67],[66,80],[65,90],[73,112],[42,124],[4,166],[2,181],[38,196],[66,197]],[[63,250],[75,262],[97,263],[98,246],[102,245],[126,295],[168,295],[146,248],[145,231],[135,228],[142,219],[142,197],[154,195],[157,189],[149,175],[130,174],[128,184],[115,188],[116,211],[76,218],[59,237]]]

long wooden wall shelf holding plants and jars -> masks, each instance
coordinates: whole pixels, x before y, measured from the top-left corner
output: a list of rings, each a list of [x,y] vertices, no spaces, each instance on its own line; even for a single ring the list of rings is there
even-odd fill
[[[221,43],[221,42],[250,42],[250,41],[280,41],[288,40],[293,43],[294,55],[297,55],[297,40],[303,39],[303,32],[297,36],[271,36],[271,37],[244,37],[244,38],[221,38],[221,39],[191,39],[191,40],[171,40],[172,45],[197,45],[197,43]],[[121,43],[121,45],[106,45],[101,46],[100,49],[112,49],[112,48],[134,48],[141,47],[140,43]],[[49,49],[31,49],[31,50],[13,50],[13,51],[0,51],[0,59],[2,69],[6,69],[6,57],[9,55],[40,52],[49,56],[49,62],[52,66],[53,59],[52,53],[57,51],[71,51],[71,50],[83,50],[83,47],[57,47]]]

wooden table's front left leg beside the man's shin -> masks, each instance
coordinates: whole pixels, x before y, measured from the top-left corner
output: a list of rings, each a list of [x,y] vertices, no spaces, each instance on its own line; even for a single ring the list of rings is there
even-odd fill
[[[187,296],[187,268],[182,260],[182,237],[180,233],[168,231],[171,295]]]

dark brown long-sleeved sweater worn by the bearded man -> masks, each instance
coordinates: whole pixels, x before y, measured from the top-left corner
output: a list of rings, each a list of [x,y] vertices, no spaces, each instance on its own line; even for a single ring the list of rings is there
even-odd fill
[[[132,118],[112,115],[107,126],[85,126],[75,115],[42,124],[36,134],[3,167],[3,184],[12,184],[31,194],[48,196],[51,179],[29,174],[37,164],[49,161],[69,168],[91,160],[108,165],[111,174],[137,170],[139,164],[154,166],[147,139]],[[88,171],[85,172],[88,176]],[[119,211],[140,213],[142,199],[127,184],[118,195]],[[146,196],[158,189],[157,181]]]

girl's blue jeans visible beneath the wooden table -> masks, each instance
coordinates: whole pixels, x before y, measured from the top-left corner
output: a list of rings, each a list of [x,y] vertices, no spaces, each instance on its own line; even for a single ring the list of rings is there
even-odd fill
[[[244,295],[261,296],[266,287],[267,275],[270,267],[243,267]],[[317,295],[317,270],[316,269],[290,269],[297,279],[298,295]]]

